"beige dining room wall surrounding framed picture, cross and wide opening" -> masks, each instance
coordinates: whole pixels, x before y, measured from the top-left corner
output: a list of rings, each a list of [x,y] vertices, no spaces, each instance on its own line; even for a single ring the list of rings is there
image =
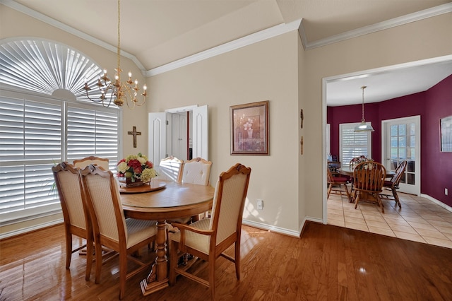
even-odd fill
[[[116,63],[114,52],[1,5],[0,28],[0,39],[43,37],[74,47],[109,70]],[[297,235],[305,219],[323,217],[322,78],[452,54],[451,32],[449,13],[304,51],[294,31],[147,78],[147,106],[123,110],[122,151],[148,154],[148,112],[208,105],[210,181],[234,163],[250,166],[244,218]],[[132,61],[123,58],[121,67],[143,82]],[[230,155],[230,106],[262,100],[270,100],[270,155]],[[132,126],[142,132],[138,148],[126,134]],[[256,210],[256,199],[263,199],[263,211]]]

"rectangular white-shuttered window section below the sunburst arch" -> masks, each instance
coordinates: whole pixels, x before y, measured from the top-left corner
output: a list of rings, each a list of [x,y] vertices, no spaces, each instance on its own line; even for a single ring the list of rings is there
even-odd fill
[[[0,220],[61,210],[52,166],[118,158],[119,110],[15,93],[0,95]],[[23,97],[23,95],[22,95]]]

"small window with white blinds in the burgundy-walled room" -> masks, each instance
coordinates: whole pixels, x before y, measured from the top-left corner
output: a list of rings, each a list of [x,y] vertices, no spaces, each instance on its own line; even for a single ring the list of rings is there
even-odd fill
[[[355,126],[358,124],[339,124],[340,162],[344,166],[352,158],[359,157],[360,155],[371,158],[371,132],[355,132]],[[367,124],[370,124],[370,122],[367,122]]]

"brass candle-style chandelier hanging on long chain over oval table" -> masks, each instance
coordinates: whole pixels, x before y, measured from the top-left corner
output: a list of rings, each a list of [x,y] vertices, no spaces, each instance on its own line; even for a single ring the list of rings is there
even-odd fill
[[[102,102],[102,105],[104,107],[109,107],[112,104],[112,100],[114,105],[117,105],[118,107],[122,107],[124,105],[124,102],[127,104],[127,106],[131,109],[135,107],[136,105],[144,105],[146,101],[146,93],[147,87],[146,85],[143,85],[143,93],[141,95],[143,96],[143,99],[141,102],[138,102],[137,95],[140,88],[138,88],[138,81],[132,81],[132,73],[129,71],[129,79],[125,83],[121,83],[121,66],[120,66],[120,59],[121,59],[121,34],[120,34],[120,24],[121,24],[121,11],[120,11],[120,0],[118,0],[118,47],[117,47],[117,63],[118,66],[116,69],[116,73],[114,74],[114,81],[111,81],[107,75],[107,70],[104,69],[104,74],[102,76],[97,77],[97,88],[100,90],[100,98],[93,99],[90,98],[90,95],[88,92],[91,90],[91,88],[88,86],[88,81],[85,79],[85,86],[83,87],[83,90],[86,92],[86,96],[89,100],[93,102]],[[110,94],[107,96],[107,94]]]

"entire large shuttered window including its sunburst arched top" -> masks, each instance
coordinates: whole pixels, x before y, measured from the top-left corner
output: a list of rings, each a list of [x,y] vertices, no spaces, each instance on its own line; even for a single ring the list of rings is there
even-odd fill
[[[82,89],[100,72],[58,42],[0,40],[0,220],[61,211],[51,170],[61,161],[96,155],[115,169],[120,110],[91,102]]]

